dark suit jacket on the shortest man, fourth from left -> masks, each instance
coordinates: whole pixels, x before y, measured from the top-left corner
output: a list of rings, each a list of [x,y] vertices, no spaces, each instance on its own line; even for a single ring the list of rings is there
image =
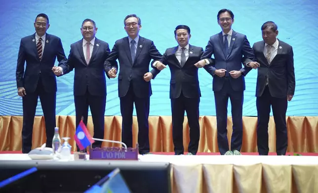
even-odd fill
[[[181,66],[175,52],[179,46],[166,49],[160,62],[168,65],[171,72],[170,98],[178,98],[181,94],[187,98],[199,98],[201,96],[198,78],[198,68],[194,65],[199,62],[203,49],[189,44],[189,58]],[[212,61],[210,61],[212,63]]]

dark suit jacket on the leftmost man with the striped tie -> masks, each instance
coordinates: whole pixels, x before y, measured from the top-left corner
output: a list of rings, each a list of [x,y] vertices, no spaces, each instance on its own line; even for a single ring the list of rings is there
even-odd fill
[[[56,77],[52,67],[56,58],[59,64],[64,64],[67,61],[61,39],[55,35],[45,34],[45,46],[41,61],[35,39],[35,33],[21,39],[16,69],[17,88],[24,87],[26,93],[33,93],[41,77],[45,92],[56,92]],[[25,62],[27,64],[24,71]]]

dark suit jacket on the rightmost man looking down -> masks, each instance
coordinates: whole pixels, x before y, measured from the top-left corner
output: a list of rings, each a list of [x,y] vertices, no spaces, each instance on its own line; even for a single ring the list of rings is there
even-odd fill
[[[254,43],[253,51],[257,62],[260,64],[257,73],[256,96],[262,96],[266,78],[268,76],[268,86],[273,97],[285,98],[287,95],[295,93],[295,72],[293,48],[287,43],[278,40],[277,55],[268,64],[263,49],[264,41]]]

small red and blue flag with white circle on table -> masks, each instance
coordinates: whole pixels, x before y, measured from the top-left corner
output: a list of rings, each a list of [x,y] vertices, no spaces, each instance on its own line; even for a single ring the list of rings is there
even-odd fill
[[[74,139],[80,150],[85,149],[87,146],[95,142],[82,120],[76,129]]]

